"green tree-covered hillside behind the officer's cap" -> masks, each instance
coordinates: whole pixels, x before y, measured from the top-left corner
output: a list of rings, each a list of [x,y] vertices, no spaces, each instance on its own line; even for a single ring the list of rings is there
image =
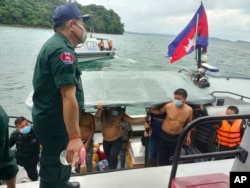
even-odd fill
[[[69,0],[1,0],[0,24],[53,28],[52,16],[55,8],[67,2]],[[85,23],[88,31],[93,26],[96,33],[124,33],[124,24],[112,9],[107,10],[104,6],[95,4],[77,5],[81,13],[91,15]]]

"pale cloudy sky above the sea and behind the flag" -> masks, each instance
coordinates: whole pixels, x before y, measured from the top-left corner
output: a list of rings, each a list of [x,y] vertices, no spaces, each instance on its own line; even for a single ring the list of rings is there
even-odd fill
[[[102,5],[121,18],[125,31],[177,35],[199,8],[201,0],[77,0]],[[203,0],[209,36],[250,42],[250,0]]]

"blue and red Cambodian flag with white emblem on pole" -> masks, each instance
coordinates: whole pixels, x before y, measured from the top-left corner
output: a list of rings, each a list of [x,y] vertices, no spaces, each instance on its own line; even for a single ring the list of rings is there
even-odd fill
[[[190,54],[196,45],[200,45],[202,48],[208,46],[207,15],[202,2],[189,24],[168,45],[170,62],[173,63],[183,56]]]

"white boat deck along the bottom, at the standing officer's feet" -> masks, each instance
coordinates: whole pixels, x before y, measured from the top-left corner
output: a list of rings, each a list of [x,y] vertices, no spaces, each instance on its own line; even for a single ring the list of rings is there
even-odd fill
[[[223,173],[229,176],[234,159],[180,164],[177,177],[199,176]],[[172,166],[137,168],[122,170],[119,173],[106,172],[71,177],[70,181],[78,181],[82,188],[166,188],[168,186]],[[134,176],[133,176],[134,175]],[[149,176],[150,175],[150,176]],[[0,186],[5,187],[5,186]],[[38,188],[39,182],[17,184],[17,188]]]

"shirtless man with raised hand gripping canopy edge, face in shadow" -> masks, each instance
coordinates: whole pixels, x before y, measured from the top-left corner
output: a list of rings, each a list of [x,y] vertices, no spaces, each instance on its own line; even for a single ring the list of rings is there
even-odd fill
[[[118,164],[118,154],[122,149],[123,140],[121,132],[121,122],[144,123],[145,117],[132,118],[125,114],[120,107],[105,108],[103,104],[97,104],[96,122],[101,121],[103,149],[109,162],[109,169],[116,169]]]

